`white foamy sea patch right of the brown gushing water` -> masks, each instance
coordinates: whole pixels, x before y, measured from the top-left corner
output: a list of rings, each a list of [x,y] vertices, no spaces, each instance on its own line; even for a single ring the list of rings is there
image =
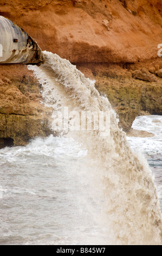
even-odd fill
[[[162,211],[162,116],[146,115],[137,117],[132,128],[153,134],[152,137],[127,137],[127,139],[134,151],[146,157],[152,169]]]

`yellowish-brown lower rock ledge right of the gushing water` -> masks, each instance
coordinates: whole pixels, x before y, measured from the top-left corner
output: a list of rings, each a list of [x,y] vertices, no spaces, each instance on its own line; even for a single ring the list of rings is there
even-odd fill
[[[138,115],[162,114],[162,80],[159,77],[156,77],[154,82],[134,79],[132,68],[139,70],[140,66],[127,66],[128,69],[125,69],[119,65],[102,64],[93,68],[79,65],[78,68],[85,72],[87,77],[95,79],[96,89],[108,97],[124,131],[128,132],[131,129]],[[150,74],[148,70],[147,73]]]

